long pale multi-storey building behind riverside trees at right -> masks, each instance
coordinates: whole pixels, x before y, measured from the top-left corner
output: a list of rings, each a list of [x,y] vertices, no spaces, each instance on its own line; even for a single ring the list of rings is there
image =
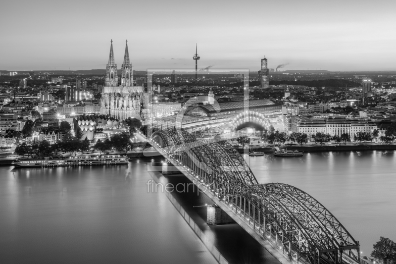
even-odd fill
[[[377,124],[370,119],[353,118],[348,119],[340,116],[328,118],[315,118],[312,116],[299,116],[292,123],[292,132],[300,132],[314,135],[317,132],[330,134],[331,136],[341,136],[349,134],[351,138],[357,132],[372,133],[377,128]]]

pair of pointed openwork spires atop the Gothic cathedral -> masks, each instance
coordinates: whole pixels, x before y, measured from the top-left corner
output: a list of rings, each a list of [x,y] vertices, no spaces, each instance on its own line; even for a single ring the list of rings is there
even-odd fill
[[[121,65],[121,85],[133,86],[133,67],[129,59],[128,41],[126,41],[124,62]],[[118,86],[117,64],[115,64],[113,40],[111,40],[108,64],[106,65],[105,86]]]

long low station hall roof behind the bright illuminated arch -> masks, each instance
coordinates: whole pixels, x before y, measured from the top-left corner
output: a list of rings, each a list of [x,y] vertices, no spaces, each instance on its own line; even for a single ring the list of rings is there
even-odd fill
[[[193,108],[201,108],[205,113],[216,113],[218,111],[218,107],[220,107],[220,112],[224,111],[237,111],[237,110],[244,110],[245,104],[248,106],[250,110],[258,109],[258,108],[265,108],[265,107],[271,107],[271,106],[281,106],[278,103],[275,103],[271,100],[264,99],[264,100],[249,100],[247,101],[248,104],[246,104],[244,101],[238,101],[238,102],[230,102],[230,103],[219,103],[218,106],[215,105],[203,105],[203,106],[193,106]],[[216,110],[217,108],[217,110]]]

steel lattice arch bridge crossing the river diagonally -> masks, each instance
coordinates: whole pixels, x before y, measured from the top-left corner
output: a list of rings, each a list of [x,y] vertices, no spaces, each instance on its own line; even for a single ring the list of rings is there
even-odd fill
[[[226,141],[198,141],[175,128],[153,129],[148,141],[287,262],[360,262],[359,242],[330,211],[291,185],[259,184],[245,159]]]

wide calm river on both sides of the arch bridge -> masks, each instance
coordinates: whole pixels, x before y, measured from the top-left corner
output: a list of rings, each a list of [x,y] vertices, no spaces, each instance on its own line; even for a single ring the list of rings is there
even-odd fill
[[[396,152],[245,157],[260,183],[294,185],[319,200],[369,255],[380,236],[396,240]],[[0,263],[214,263],[162,192],[148,180],[188,183],[127,166],[0,167]],[[209,226],[204,195],[175,198],[230,263],[278,262],[237,224]]]

